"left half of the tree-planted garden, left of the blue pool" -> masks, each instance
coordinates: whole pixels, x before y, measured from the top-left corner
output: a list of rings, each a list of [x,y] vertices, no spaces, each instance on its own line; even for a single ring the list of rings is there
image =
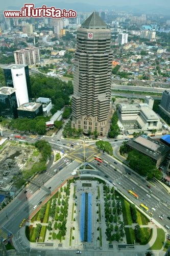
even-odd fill
[[[44,242],[47,240],[64,240],[66,234],[66,221],[68,215],[68,199],[70,193],[70,181],[37,212],[31,219],[34,225],[26,226],[26,236],[30,242]],[[34,227],[33,227],[34,226]]]

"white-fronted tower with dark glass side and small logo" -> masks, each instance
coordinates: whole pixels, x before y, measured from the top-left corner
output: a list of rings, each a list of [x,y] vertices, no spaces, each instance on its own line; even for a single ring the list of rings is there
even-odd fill
[[[16,89],[17,106],[29,102],[31,84],[28,66],[12,64],[4,68],[4,74],[7,87]]]

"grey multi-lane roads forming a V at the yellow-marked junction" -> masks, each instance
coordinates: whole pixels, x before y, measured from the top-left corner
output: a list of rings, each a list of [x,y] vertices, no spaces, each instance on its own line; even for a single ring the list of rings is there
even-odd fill
[[[14,133],[12,132],[4,132],[4,135],[14,138]],[[80,163],[84,162],[84,154],[86,159],[89,158],[90,164],[96,170],[82,170],[82,175],[85,174],[88,176],[88,173],[90,172],[92,175],[95,174],[106,180],[111,180],[116,185],[117,189],[122,191],[123,194],[132,200],[132,202],[138,206],[140,203],[147,204],[149,212],[153,213],[153,218],[155,220],[162,225],[170,225],[170,221],[167,219],[167,213],[169,212],[170,206],[169,194],[160,184],[153,181],[153,184],[151,185],[151,193],[147,187],[147,184],[149,183],[143,177],[140,177],[125,164],[117,161],[107,154],[100,153],[100,157],[104,159],[107,166],[105,164],[98,165],[94,161],[93,155],[94,152],[96,152],[95,154],[99,153],[96,151],[94,145],[89,145],[93,143],[91,141],[89,141],[88,145],[79,144],[72,148],[70,146],[63,145],[70,142],[69,140],[67,140],[67,142],[62,139],[59,140],[57,139],[57,136],[54,136],[53,138],[42,138],[51,143],[53,150],[64,150],[67,151],[67,154],[63,153],[63,158],[61,160],[54,163],[45,173],[35,177],[33,179],[34,184],[30,183],[27,186],[27,191],[26,188],[23,189],[21,193],[0,212],[1,228],[4,231],[16,234],[21,220],[23,218],[27,219],[33,212],[33,207],[35,205],[38,205],[40,201],[43,201],[51,191],[71,176],[70,174],[72,170],[76,169]],[[26,141],[34,142],[36,139],[26,136]],[[123,139],[117,141],[112,140],[111,142],[113,145],[117,146],[120,145],[122,141]],[[75,160],[74,156],[76,156]],[[106,178],[105,175],[109,178]],[[138,200],[128,194],[129,189],[133,189],[139,196]],[[151,198],[149,198],[147,194],[150,194]],[[155,208],[156,211],[152,210],[152,208]],[[164,215],[163,220],[159,218],[160,215]]]

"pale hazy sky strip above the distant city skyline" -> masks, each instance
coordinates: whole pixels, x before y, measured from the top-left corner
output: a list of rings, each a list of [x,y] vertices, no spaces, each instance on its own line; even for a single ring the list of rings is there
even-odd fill
[[[26,0],[27,1],[27,0]],[[46,5],[47,7],[51,7],[52,4],[57,8],[57,3],[69,3],[70,0],[31,0],[31,1],[22,1],[22,0],[5,0],[1,1],[1,10],[9,7],[9,6],[18,6],[22,7],[24,4],[28,3],[33,3],[35,5],[40,5],[42,4]],[[169,9],[170,7],[170,1],[169,0],[72,0],[72,3],[86,3],[86,4],[91,4],[91,5],[98,5],[98,6],[137,6],[137,5],[145,5],[147,8],[147,5],[152,5],[155,6],[162,6],[166,7]],[[67,9],[67,6],[65,4],[65,9]]]

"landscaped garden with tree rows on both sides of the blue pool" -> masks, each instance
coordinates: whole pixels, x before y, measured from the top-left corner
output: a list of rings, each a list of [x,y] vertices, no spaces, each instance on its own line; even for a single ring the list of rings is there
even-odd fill
[[[31,219],[31,225],[26,226],[26,236],[31,242],[44,242],[58,240],[60,243],[65,240],[66,231],[69,232],[69,246],[72,246],[72,241],[78,235],[79,228],[79,200],[80,193],[78,193],[78,183],[80,182],[84,189],[86,189],[92,182],[95,187],[95,204],[93,210],[96,215],[93,216],[95,222],[96,239],[98,246],[102,246],[104,239],[104,232],[109,244],[113,241],[125,242],[127,244],[147,244],[152,237],[151,228],[142,228],[140,225],[147,225],[148,218],[138,211],[134,204],[129,203],[114,190],[114,187],[106,184],[104,180],[94,178],[93,181],[89,178],[88,182],[82,183],[87,180],[73,178],[67,181],[64,187],[61,187],[57,193],[46,203]],[[95,181],[96,180],[96,181]],[[70,195],[71,184],[71,200]],[[83,190],[84,190],[83,189]],[[82,190],[82,189],[81,189]],[[90,193],[90,189],[89,189]],[[101,196],[102,194],[102,196]],[[101,201],[104,199],[104,203]],[[68,216],[68,204],[69,211]],[[69,218],[69,230],[67,230],[67,218]],[[101,219],[105,218],[106,229],[101,226]],[[135,223],[135,226],[132,224]],[[131,227],[126,227],[130,225]],[[92,228],[93,229],[93,228]]]

